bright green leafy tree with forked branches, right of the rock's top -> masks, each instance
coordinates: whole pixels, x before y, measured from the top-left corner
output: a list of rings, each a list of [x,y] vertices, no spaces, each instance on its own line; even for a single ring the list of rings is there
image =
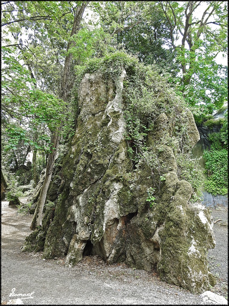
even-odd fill
[[[227,67],[216,63],[217,54],[225,56],[227,52],[227,3],[159,4],[169,23],[169,43],[182,69],[172,82],[190,106],[204,104],[212,114],[227,99]]]

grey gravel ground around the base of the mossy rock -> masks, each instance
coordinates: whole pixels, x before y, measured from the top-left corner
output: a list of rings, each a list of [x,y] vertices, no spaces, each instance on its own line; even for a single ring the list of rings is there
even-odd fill
[[[227,297],[227,211],[212,210],[217,246],[209,252],[213,273],[218,273],[215,293]],[[128,268],[125,264],[106,265],[96,256],[85,256],[74,268],[62,259],[42,260],[42,253],[22,253],[30,233],[32,216],[19,214],[2,202],[2,290],[8,301],[11,290],[31,293],[26,305],[203,305],[199,295],[161,282],[155,272]],[[221,223],[221,224],[220,224]]]

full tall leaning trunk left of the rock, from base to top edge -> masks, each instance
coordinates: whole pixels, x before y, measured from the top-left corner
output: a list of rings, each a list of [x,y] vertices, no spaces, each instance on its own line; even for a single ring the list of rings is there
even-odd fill
[[[76,11],[75,11],[75,17],[74,17],[74,22],[72,26],[72,31],[71,31],[71,36],[76,34],[79,30],[80,26],[80,21],[82,19],[83,12],[85,10],[85,7],[87,6],[88,2],[82,2],[81,6],[78,6]],[[67,51],[71,47],[72,42],[68,42],[67,45]],[[69,84],[69,69],[70,69],[70,63],[71,63],[71,58],[72,55],[68,54],[65,62],[64,62],[64,72],[63,72],[63,77],[62,77],[62,83],[61,83],[61,96],[64,100],[64,102],[67,102],[67,93],[68,93],[68,84]],[[52,146],[51,146],[51,153],[49,154],[48,162],[47,162],[47,167],[46,167],[46,173],[45,173],[45,181],[43,183],[41,193],[39,196],[39,200],[37,203],[37,207],[33,216],[33,220],[30,226],[31,230],[35,230],[37,226],[42,225],[42,211],[45,205],[45,199],[47,196],[47,191],[49,187],[49,183],[51,181],[52,177],[52,170],[53,170],[53,164],[55,160],[55,155],[56,155],[56,149],[58,146],[58,140],[59,140],[59,128],[56,128],[56,130],[53,133],[53,137],[51,140]]]

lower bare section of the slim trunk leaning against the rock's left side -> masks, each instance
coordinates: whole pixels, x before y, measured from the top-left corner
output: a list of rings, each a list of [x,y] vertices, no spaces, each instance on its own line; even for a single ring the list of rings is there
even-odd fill
[[[43,183],[43,186],[41,188],[41,193],[39,196],[39,200],[37,203],[37,207],[33,216],[33,220],[30,226],[31,230],[35,230],[37,226],[42,225],[42,211],[45,205],[45,199],[47,195],[47,190],[49,188],[49,183],[52,177],[52,169],[53,169],[53,164],[55,161],[55,156],[56,156],[56,149],[57,149],[57,144],[58,144],[58,130],[56,130],[53,133],[52,140],[51,140],[51,153],[48,158],[47,162],[47,167],[46,167],[46,173],[45,173],[45,181]]]

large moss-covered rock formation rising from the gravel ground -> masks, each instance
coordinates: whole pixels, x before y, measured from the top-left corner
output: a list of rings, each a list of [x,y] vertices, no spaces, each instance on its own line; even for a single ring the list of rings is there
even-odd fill
[[[49,190],[56,206],[46,209],[24,251],[66,256],[69,266],[91,254],[147,271],[156,266],[162,280],[203,292],[214,283],[207,262],[207,250],[215,246],[213,220],[208,208],[190,202],[192,187],[177,176],[169,142],[176,124],[169,112],[155,118],[139,161],[130,159],[125,77],[125,69],[115,82],[101,72],[83,77],[75,136]],[[193,146],[199,140],[193,116],[185,106],[180,116],[183,143]]]

